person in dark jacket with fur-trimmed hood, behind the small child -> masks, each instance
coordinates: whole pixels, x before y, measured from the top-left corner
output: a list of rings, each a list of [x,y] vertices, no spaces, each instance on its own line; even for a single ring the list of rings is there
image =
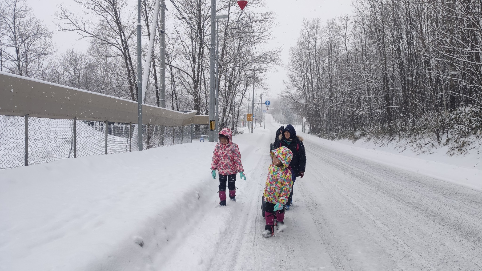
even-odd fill
[[[303,178],[305,175],[305,167],[306,167],[306,153],[305,153],[305,145],[303,145],[303,137],[296,136],[295,127],[289,124],[284,128],[281,135],[278,137],[279,143],[275,146],[275,148],[280,148],[282,146],[291,149],[293,152],[293,159],[291,160],[290,166],[293,172],[293,186],[295,185],[296,177]],[[291,187],[291,193],[288,197],[288,202],[285,206],[285,211],[290,209],[290,206],[293,203],[293,187]]]

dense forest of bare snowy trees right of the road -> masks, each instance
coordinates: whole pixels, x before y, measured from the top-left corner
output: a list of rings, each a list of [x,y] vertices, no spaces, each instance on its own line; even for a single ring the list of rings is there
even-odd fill
[[[482,1],[353,7],[326,23],[304,20],[290,51],[284,96],[312,133],[482,136]]]

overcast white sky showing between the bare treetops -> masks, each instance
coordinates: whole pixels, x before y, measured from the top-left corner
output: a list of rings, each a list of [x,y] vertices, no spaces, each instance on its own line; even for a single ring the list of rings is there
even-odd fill
[[[76,5],[71,0],[27,0],[27,3],[33,8],[34,14],[44,20],[51,30],[55,30],[54,13],[58,10],[58,4],[63,3],[71,6],[72,10],[76,10]],[[262,10],[262,12],[273,11],[277,14],[277,25],[273,28],[273,34],[276,38],[269,43],[269,46],[284,47],[281,54],[283,65],[288,63],[289,48],[294,46],[298,39],[298,31],[301,28],[303,18],[320,17],[324,22],[340,14],[351,13],[351,0],[266,0],[266,3],[266,10]],[[172,4],[166,0],[166,5],[169,9]],[[247,8],[249,8],[249,5]],[[59,52],[72,47],[85,50],[88,45],[87,41],[78,41],[78,38],[79,36],[76,33],[54,31],[54,42],[57,44]],[[276,72],[267,74],[270,95],[272,96],[279,94],[284,89],[282,81],[286,76],[284,66],[276,69]]]

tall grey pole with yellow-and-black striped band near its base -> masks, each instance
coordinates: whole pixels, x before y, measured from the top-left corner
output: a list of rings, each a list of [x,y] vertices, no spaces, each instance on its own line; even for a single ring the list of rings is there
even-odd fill
[[[140,0],[139,0],[140,1]],[[211,43],[209,45],[209,53],[211,57],[211,63],[209,65],[209,142],[214,142],[215,133],[215,120],[214,120],[214,95],[215,95],[215,42],[216,42],[216,0],[211,0]]]

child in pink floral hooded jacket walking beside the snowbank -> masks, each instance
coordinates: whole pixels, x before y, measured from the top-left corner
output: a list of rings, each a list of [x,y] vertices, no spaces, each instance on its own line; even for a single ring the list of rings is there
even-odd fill
[[[226,205],[226,181],[228,181],[229,198],[236,201],[236,173],[246,180],[241,164],[241,152],[238,144],[233,143],[231,130],[224,128],[219,132],[219,142],[213,152],[211,174],[216,178],[219,174],[219,205]]]

